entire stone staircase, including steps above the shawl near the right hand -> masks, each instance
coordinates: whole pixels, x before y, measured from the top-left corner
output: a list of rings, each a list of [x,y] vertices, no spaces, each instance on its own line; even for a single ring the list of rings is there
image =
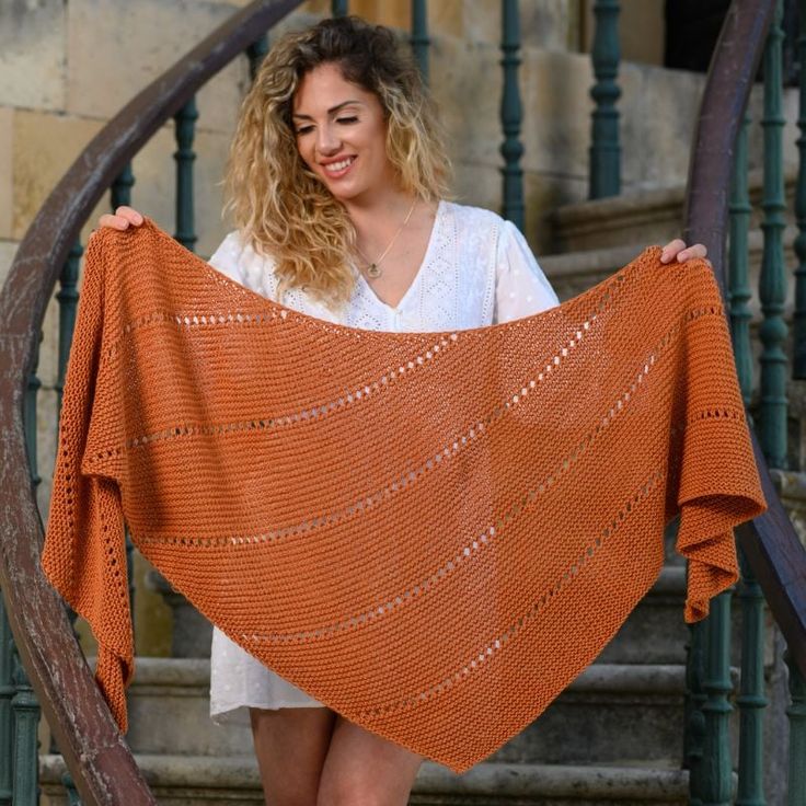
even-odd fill
[[[794,175],[790,181],[794,183]],[[645,245],[677,237],[682,200],[680,186],[559,209],[553,215],[556,242],[569,251],[539,260],[560,297],[567,299],[590,287]],[[757,237],[752,233],[751,240]],[[668,536],[660,577],[597,661],[532,725],[463,775],[424,762],[410,803],[688,803],[688,772],[681,769],[689,641],[682,619],[684,595],[686,569],[675,553],[673,536]],[[780,704],[785,687],[776,641],[778,633],[768,631],[765,671]],[[210,722],[209,661],[140,657],[137,664],[127,739],[159,802],[262,806],[251,730]],[[732,671],[738,687],[738,655]],[[779,767],[773,763],[769,770],[771,806],[783,802],[785,779],[783,713],[780,706],[776,713],[775,703],[765,736],[769,758],[780,759]],[[738,724],[733,728],[736,757]],[[53,806],[68,804],[64,772],[60,756],[42,759],[41,785]]]

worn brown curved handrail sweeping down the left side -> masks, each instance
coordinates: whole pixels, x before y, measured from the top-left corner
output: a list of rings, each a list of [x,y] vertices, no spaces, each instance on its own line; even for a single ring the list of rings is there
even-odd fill
[[[302,0],[255,0],[127,104],[28,228],[0,292],[0,586],[16,646],[87,806],[154,804],[39,568],[43,525],[23,433],[25,387],[70,246],[124,165],[197,90]]]

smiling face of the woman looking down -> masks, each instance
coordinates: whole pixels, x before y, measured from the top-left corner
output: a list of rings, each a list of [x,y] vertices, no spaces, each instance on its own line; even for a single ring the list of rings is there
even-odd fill
[[[339,200],[369,198],[396,184],[383,107],[375,93],[345,80],[337,65],[302,77],[292,120],[300,157]]]

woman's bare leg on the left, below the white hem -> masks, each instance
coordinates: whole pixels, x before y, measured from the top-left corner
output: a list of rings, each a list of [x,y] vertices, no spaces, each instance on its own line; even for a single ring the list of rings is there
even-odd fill
[[[250,709],[266,806],[313,806],[336,713]]]

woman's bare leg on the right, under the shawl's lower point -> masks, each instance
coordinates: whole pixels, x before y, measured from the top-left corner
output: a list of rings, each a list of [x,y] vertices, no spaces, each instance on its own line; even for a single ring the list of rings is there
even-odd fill
[[[424,757],[338,715],[316,806],[405,806]]]

